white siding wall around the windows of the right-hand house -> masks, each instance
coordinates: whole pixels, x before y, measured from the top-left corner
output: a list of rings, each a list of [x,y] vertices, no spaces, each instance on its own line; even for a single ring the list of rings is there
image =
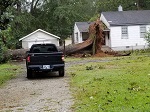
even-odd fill
[[[147,26],[147,29],[150,26]],[[145,48],[146,41],[140,38],[140,26],[128,26],[128,38],[122,39],[121,26],[110,28],[111,47],[113,50],[131,50]]]

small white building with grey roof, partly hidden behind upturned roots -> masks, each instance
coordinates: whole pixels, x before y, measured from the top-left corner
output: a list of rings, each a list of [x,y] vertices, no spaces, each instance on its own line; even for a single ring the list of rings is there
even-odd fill
[[[75,22],[73,43],[81,43],[88,39],[89,26],[92,22]]]

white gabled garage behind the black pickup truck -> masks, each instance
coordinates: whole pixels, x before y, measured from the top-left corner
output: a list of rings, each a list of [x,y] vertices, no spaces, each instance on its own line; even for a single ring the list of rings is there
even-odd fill
[[[33,44],[53,43],[59,46],[59,39],[60,37],[56,35],[38,29],[19,39],[19,41],[22,41],[22,48],[29,49]]]

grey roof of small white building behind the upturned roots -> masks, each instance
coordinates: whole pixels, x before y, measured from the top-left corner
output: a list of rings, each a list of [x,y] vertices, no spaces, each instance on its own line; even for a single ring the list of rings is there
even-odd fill
[[[89,31],[89,26],[92,23],[93,22],[75,22],[75,24],[77,25],[80,32],[88,32]]]

